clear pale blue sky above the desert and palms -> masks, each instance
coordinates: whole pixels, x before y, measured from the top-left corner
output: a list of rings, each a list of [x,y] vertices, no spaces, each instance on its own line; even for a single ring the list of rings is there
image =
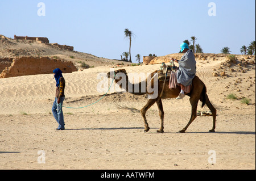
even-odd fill
[[[46,16],[38,16],[38,3]],[[210,2],[216,16],[209,16]],[[129,51],[123,31],[135,36],[131,56],[179,52],[191,36],[204,53],[230,47],[241,54],[242,45],[255,40],[255,0],[1,0],[0,34],[48,37],[50,43],[71,45],[79,52],[119,59]]]

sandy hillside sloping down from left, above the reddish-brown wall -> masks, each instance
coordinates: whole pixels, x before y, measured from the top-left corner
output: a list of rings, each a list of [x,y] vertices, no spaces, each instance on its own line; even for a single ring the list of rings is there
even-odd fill
[[[129,64],[124,61],[100,58],[89,53],[82,53],[65,49],[65,45],[57,43],[47,44],[33,40],[17,40],[0,35],[0,59],[15,57],[49,57],[72,61],[77,69],[82,68],[81,63],[86,64],[86,68],[104,65]]]

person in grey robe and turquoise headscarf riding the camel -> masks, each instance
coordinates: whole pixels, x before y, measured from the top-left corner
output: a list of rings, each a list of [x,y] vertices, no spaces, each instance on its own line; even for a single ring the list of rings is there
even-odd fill
[[[193,50],[188,48],[187,43],[180,45],[180,52],[184,53],[181,60],[171,58],[171,60],[179,64],[179,70],[177,70],[177,83],[180,83],[181,91],[176,99],[183,99],[185,87],[192,84],[192,80],[196,75],[196,60]]]

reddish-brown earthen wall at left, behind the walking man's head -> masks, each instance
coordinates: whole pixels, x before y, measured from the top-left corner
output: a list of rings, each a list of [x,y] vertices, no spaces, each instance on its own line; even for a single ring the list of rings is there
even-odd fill
[[[2,73],[0,71],[0,78],[51,74],[56,68],[59,68],[63,73],[77,71],[76,66],[71,61],[62,61],[48,57],[16,57],[12,60],[9,67],[6,66],[6,68],[2,70]]]

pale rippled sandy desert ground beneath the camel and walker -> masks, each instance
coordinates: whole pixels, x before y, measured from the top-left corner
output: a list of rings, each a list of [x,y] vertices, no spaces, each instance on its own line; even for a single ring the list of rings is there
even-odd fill
[[[255,64],[246,73],[227,70],[228,76],[214,77],[213,69],[224,61],[197,60],[197,75],[217,109],[214,133],[208,132],[212,116],[197,116],[186,133],[178,132],[191,115],[188,96],[163,100],[164,133],[156,133],[160,119],[152,106],[147,112],[151,129],[144,133],[139,111],[147,96],[127,92],[109,92],[86,108],[63,108],[66,129],[55,131],[52,74],[0,79],[0,169],[255,169]],[[138,73],[159,68],[125,67]],[[104,92],[97,91],[97,75],[109,70],[99,66],[64,74],[64,106],[82,107],[100,99]],[[232,93],[237,100],[226,99]],[[242,98],[250,103],[241,103]],[[198,110],[208,108],[199,103]]]

